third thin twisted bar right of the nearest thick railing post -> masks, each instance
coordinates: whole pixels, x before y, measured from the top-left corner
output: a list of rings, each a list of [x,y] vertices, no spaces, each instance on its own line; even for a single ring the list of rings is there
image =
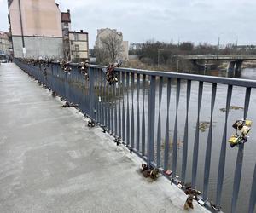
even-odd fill
[[[177,79],[177,89],[176,89],[176,116],[174,124],[174,134],[173,134],[173,150],[172,150],[172,176],[176,176],[177,170],[177,110],[180,95],[180,79]]]

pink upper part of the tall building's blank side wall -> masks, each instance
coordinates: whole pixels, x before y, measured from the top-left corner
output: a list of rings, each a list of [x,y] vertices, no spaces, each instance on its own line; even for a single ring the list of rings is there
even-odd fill
[[[62,37],[61,11],[55,0],[20,0],[23,35]],[[21,35],[19,1],[9,7],[13,36]]]

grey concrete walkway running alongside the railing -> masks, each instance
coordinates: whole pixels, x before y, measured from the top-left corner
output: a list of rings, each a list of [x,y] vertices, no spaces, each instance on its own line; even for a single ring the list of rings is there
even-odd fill
[[[1,213],[183,212],[181,190],[143,178],[141,159],[61,105],[15,64],[0,66]]]

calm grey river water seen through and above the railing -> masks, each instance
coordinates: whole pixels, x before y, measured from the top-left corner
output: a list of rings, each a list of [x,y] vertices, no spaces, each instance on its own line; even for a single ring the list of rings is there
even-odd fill
[[[211,76],[218,77],[229,77],[229,78],[245,78],[256,80],[256,69],[246,68],[243,69],[240,73],[234,76],[233,73],[227,73],[225,71],[212,71],[212,72],[191,72],[196,74],[206,74]],[[131,83],[131,82],[130,82]],[[157,81],[158,87],[159,81]],[[198,104],[198,82],[192,82],[191,85],[191,98],[189,106],[189,153],[188,153],[188,168],[186,181],[191,181],[192,175],[192,155],[193,147],[195,141],[195,127],[196,127],[196,118],[197,118],[197,104]],[[164,144],[165,141],[165,128],[166,128],[166,111],[167,111],[167,85],[164,83],[162,90],[162,101],[161,106],[159,106],[159,89],[156,89],[156,105],[155,105],[155,138],[157,133],[158,125],[158,114],[161,111],[161,142]],[[136,86],[135,86],[136,88]],[[180,100],[178,106],[178,153],[177,153],[177,175],[181,176],[181,164],[182,164],[182,151],[183,151],[183,134],[184,134],[184,124],[185,124],[185,115],[186,115],[186,88],[187,83],[181,81],[181,90],[180,90]],[[244,88],[234,87],[233,94],[231,99],[230,106],[234,108],[230,109],[230,115],[228,119],[228,137],[234,133],[232,129],[232,124],[239,118],[243,118],[243,106],[244,106],[244,97],[245,97]],[[170,137],[173,137],[174,123],[175,123],[175,114],[176,114],[176,83],[172,82],[171,89],[171,106],[170,106]],[[146,91],[148,94],[148,91]],[[227,95],[227,85],[218,84],[216,102],[213,112],[213,132],[212,132],[212,159],[211,159],[211,170],[210,170],[210,180],[209,180],[209,193],[208,197],[210,200],[215,202],[216,200],[216,189],[217,189],[217,179],[218,179],[218,160],[220,154],[221,141],[224,132],[224,117],[225,113],[221,110],[225,108],[226,105],[226,95]],[[211,107],[211,98],[212,98],[212,84],[204,83],[203,86],[203,95],[201,103],[201,122],[210,121],[210,107]],[[142,97],[142,88],[140,89],[139,94],[139,105],[143,106],[143,97]],[[145,115],[147,117],[147,103],[148,98],[146,95],[145,101]],[[127,102],[127,96],[125,95],[125,106]],[[131,89],[129,89],[129,102],[130,102],[130,116],[131,116]],[[238,107],[238,108],[236,108]],[[236,109],[235,109],[236,108]],[[137,121],[137,90],[134,89],[134,109],[135,109],[135,121]],[[252,95],[250,100],[250,106],[247,114],[247,118],[256,122],[256,89],[252,89]],[[140,110],[140,118],[142,120],[142,110]],[[147,121],[146,121],[147,122]],[[136,123],[136,122],[135,122]],[[136,124],[135,124],[136,132]],[[200,131],[200,144],[199,144],[199,158],[198,158],[198,171],[197,171],[197,180],[196,186],[197,189],[203,190],[203,180],[204,180],[204,164],[206,158],[206,145],[207,145],[207,135],[208,128],[206,130]],[[249,196],[251,192],[251,185],[253,180],[253,170],[255,165],[255,156],[256,156],[256,127],[254,130],[254,125],[252,131],[250,132],[250,137],[248,142],[245,144],[244,149],[244,160],[242,166],[241,174],[241,187],[239,192],[239,200],[237,203],[237,212],[247,212],[247,207],[249,203]],[[135,136],[136,138],[136,136]],[[162,146],[163,147],[163,146]],[[164,148],[163,148],[164,149]],[[222,209],[224,212],[230,212],[231,209],[231,199],[233,192],[233,181],[234,181],[234,171],[236,166],[236,155],[237,147],[231,148],[227,142],[226,148],[226,161],[225,161],[225,172],[224,172],[224,186],[222,194]],[[161,150],[161,158],[163,158],[164,150]],[[170,169],[172,165],[172,152],[169,156]]]

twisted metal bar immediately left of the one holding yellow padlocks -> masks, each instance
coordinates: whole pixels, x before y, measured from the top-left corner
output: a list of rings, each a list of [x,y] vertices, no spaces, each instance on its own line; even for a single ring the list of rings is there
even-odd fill
[[[224,181],[224,168],[225,168],[225,158],[226,158],[226,143],[227,143],[227,125],[230,112],[230,101],[232,96],[233,86],[228,86],[227,101],[226,101],[226,115],[224,124],[224,133],[221,143],[219,163],[218,163],[218,181],[217,181],[217,193],[216,193],[216,205],[219,208],[221,204],[221,195],[223,189]]]

